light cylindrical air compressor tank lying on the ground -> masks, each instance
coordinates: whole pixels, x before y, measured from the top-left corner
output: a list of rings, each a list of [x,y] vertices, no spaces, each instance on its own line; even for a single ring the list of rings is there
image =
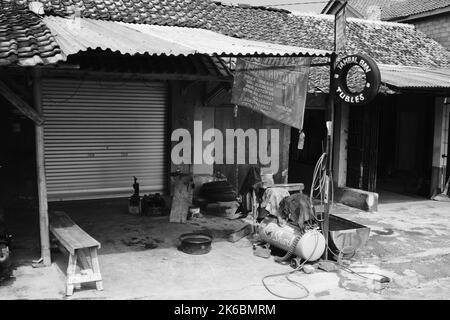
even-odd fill
[[[298,227],[292,225],[279,226],[277,220],[267,217],[259,225],[261,240],[271,245],[288,251],[295,238],[300,240],[293,254],[308,261],[318,260],[325,251],[325,238],[320,231],[311,229],[301,232]]]

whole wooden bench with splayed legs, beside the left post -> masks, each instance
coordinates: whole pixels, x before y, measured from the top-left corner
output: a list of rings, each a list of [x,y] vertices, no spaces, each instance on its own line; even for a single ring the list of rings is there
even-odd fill
[[[103,290],[97,255],[100,242],[81,229],[64,212],[52,212],[49,218],[50,232],[58,240],[59,248],[69,253],[66,295],[72,295],[74,287],[79,289],[85,282],[95,282],[97,290]]]

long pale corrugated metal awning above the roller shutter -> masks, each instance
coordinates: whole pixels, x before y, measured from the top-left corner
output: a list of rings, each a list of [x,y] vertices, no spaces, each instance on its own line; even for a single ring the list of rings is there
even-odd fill
[[[44,17],[61,50],[75,54],[88,49],[110,49],[122,54],[220,56],[326,56],[330,51],[244,40],[213,31],[88,18]]]

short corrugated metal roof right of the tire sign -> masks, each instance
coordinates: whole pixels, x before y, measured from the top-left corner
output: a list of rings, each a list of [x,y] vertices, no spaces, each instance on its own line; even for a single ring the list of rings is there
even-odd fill
[[[450,89],[449,68],[379,64],[381,81],[400,89]]]

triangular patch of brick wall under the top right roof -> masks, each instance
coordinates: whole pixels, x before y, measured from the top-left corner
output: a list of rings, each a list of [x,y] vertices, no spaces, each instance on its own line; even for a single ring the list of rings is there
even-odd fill
[[[450,12],[421,20],[408,21],[430,38],[450,50]]]

